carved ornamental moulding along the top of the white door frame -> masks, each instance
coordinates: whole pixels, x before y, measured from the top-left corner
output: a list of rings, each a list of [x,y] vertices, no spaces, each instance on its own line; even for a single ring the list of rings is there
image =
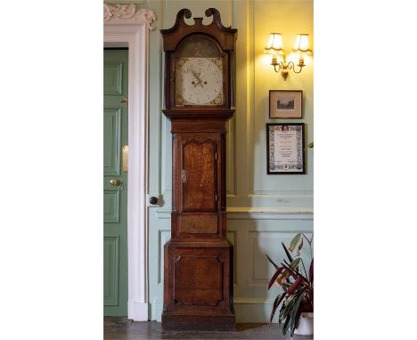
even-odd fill
[[[148,22],[149,29],[154,30],[151,23],[156,19],[155,13],[148,9],[136,9],[135,4],[104,4],[103,18],[104,22],[124,21],[130,22],[141,20]]]

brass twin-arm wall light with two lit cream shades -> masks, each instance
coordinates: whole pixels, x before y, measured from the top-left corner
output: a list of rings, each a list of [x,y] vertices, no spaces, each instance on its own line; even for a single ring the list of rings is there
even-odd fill
[[[304,53],[312,54],[312,51],[309,49],[307,34],[298,34],[292,47],[292,51],[294,53],[298,53],[298,70],[296,70],[296,65],[294,64],[294,62],[287,61],[285,57],[285,51],[282,48],[281,33],[271,33],[269,35],[269,40],[266,44],[265,51],[266,53],[273,54],[273,61],[271,65],[274,66],[274,70],[276,73],[279,73],[281,71],[284,80],[287,80],[289,69],[292,69],[294,73],[299,73],[306,66],[306,64],[304,63]],[[282,55],[282,61],[277,61],[276,54]]]

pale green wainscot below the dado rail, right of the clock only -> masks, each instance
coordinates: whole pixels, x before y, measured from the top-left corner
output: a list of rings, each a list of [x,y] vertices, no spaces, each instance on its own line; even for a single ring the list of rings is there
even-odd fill
[[[251,215],[242,212],[228,219],[227,229],[235,234],[233,303],[236,320],[268,322],[274,297],[281,293],[281,288],[274,286],[269,291],[267,289],[274,266],[268,262],[266,254],[277,263],[286,258],[282,242],[288,246],[297,232],[311,236],[313,215],[259,211]],[[309,253],[305,242],[301,256],[307,260],[306,265],[310,261]]]

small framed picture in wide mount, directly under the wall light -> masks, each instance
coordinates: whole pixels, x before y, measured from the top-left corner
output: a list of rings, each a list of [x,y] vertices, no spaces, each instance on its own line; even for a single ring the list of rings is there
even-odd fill
[[[269,90],[270,118],[301,118],[302,91]]]

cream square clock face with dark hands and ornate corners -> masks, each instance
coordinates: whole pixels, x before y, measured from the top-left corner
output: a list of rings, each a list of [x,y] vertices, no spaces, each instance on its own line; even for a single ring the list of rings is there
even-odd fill
[[[176,105],[223,105],[222,58],[176,60]]]

